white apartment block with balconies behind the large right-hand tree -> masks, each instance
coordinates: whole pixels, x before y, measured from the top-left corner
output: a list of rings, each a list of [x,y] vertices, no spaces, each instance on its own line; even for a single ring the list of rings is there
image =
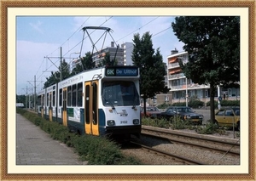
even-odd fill
[[[198,99],[206,102],[210,100],[210,87],[209,85],[199,85],[192,82],[184,76],[183,71],[179,66],[179,61],[183,61],[186,64],[189,60],[189,54],[187,52],[178,52],[177,49],[171,51],[171,55],[167,57],[167,82],[168,88],[171,88],[172,103],[183,102],[186,100],[186,96],[196,96]],[[221,96],[225,99],[240,99],[240,88],[221,88]],[[218,90],[215,94],[218,99]]]

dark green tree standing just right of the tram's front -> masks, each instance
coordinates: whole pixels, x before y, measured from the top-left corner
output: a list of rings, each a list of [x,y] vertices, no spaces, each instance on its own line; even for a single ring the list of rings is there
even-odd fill
[[[146,112],[146,99],[154,98],[157,93],[167,93],[169,89],[165,86],[166,67],[163,63],[160,48],[154,52],[153,43],[149,32],[134,35],[134,48],[131,55],[133,65],[140,69],[140,91]]]

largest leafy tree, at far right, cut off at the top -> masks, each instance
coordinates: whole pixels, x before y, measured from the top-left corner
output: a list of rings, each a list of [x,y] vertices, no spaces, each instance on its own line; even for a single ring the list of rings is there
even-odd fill
[[[240,19],[230,16],[176,17],[172,28],[185,45],[189,62],[181,68],[195,83],[210,85],[211,120],[218,85],[239,86]]]

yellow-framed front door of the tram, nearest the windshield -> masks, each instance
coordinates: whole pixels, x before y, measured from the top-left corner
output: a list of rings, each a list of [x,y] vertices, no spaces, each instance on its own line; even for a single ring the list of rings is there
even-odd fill
[[[99,135],[98,123],[98,82],[85,82],[84,129],[85,133]]]

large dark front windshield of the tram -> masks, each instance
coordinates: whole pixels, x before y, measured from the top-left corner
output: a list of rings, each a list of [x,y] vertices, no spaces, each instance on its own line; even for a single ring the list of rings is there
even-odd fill
[[[105,106],[139,105],[139,95],[134,82],[104,82],[102,103]]]

